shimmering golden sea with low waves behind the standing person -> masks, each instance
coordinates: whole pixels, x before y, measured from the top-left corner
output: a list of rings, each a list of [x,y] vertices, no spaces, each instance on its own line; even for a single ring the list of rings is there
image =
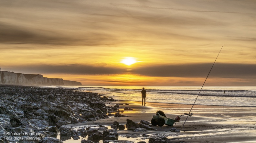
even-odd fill
[[[115,100],[128,101],[141,101],[143,88],[142,86],[50,87],[72,88],[80,92],[93,92]],[[203,88],[199,86],[144,86],[144,88],[147,92],[146,102],[256,107],[256,86],[204,86]]]

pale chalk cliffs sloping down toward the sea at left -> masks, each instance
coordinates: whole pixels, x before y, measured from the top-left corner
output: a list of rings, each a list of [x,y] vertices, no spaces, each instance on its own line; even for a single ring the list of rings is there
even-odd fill
[[[82,85],[76,81],[65,81],[62,78],[47,78],[42,75],[30,75],[0,71],[0,84],[12,85]]]

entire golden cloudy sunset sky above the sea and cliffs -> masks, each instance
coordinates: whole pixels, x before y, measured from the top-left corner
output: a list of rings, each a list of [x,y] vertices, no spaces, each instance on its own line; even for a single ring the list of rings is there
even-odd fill
[[[82,85],[202,86],[222,48],[205,86],[255,86],[255,42],[253,0],[0,0],[1,70]]]

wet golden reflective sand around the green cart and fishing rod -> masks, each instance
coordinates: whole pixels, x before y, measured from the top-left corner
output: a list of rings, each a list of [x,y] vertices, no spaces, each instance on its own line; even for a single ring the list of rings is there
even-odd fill
[[[128,103],[129,105],[125,105]],[[151,121],[156,111],[163,111],[168,118],[175,118],[176,116],[188,113],[192,105],[187,104],[166,104],[166,103],[146,103],[142,106],[140,102],[133,101],[118,101],[107,104],[120,105],[119,110],[124,107],[133,109],[125,110],[123,115],[128,117],[109,118],[98,121],[89,121],[87,123],[70,124],[67,125],[72,128],[78,127],[98,127],[104,125],[109,127],[114,121],[120,124],[125,124],[126,119],[130,119],[139,123],[141,120]],[[129,140],[133,142],[145,141],[149,138],[157,138],[160,136],[171,139],[169,143],[178,143],[185,141],[187,143],[253,143],[256,142],[256,107],[231,107],[231,106],[206,106],[194,105],[191,112],[194,113],[191,117],[183,116],[180,122],[176,122],[171,126],[154,126],[155,130],[146,132],[133,132],[131,130],[119,130],[119,140]],[[184,121],[187,121],[184,124]],[[180,133],[171,132],[171,128],[181,130]],[[145,133],[149,137],[142,137]],[[102,140],[101,140],[102,141]],[[67,140],[69,142],[80,142],[80,140]]]

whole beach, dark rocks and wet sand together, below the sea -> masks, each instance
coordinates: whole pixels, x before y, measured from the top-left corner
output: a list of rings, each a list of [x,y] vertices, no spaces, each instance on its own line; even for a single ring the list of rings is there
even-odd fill
[[[173,119],[189,113],[192,105],[146,102],[142,106],[75,88],[1,85],[0,94],[3,143],[256,142],[256,107],[194,105],[191,117],[160,127],[151,124],[157,111]],[[114,122],[128,125],[121,130],[112,126]],[[129,127],[132,123],[136,128]]]

